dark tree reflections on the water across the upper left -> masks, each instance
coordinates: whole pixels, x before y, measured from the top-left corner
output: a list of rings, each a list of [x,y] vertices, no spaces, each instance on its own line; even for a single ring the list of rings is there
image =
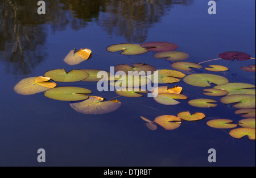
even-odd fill
[[[6,73],[29,74],[47,56],[49,24],[54,32],[67,26],[73,30],[97,21],[110,35],[123,36],[128,43],[142,43],[147,30],[174,4],[192,0],[59,0],[45,1],[47,15],[39,18],[37,0],[2,0],[0,3],[0,59]]]

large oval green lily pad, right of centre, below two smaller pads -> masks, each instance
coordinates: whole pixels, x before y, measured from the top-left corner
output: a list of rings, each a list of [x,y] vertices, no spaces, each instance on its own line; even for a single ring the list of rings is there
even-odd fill
[[[210,86],[209,82],[216,85],[225,85],[229,82],[229,80],[225,77],[209,73],[191,74],[186,76],[183,80],[186,84],[200,87]]]

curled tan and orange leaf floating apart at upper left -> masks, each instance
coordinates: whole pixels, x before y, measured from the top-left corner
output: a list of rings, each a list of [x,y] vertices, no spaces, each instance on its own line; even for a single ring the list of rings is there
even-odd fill
[[[76,49],[71,50],[65,57],[64,62],[69,65],[77,65],[88,60],[92,51],[90,49],[80,49],[75,53]]]

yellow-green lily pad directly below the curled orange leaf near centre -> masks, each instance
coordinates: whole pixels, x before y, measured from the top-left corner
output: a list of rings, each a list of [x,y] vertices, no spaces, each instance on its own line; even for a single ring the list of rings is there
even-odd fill
[[[188,97],[183,94],[160,93],[158,96],[154,97],[154,100],[162,105],[177,105],[180,104],[180,102],[176,100],[187,100],[187,98]]]

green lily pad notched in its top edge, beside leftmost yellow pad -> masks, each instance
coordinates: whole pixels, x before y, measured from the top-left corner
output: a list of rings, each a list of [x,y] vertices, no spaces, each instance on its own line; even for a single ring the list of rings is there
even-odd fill
[[[75,69],[67,73],[65,69],[55,69],[46,72],[44,76],[51,77],[52,80],[58,82],[76,82],[89,77],[89,73]]]

